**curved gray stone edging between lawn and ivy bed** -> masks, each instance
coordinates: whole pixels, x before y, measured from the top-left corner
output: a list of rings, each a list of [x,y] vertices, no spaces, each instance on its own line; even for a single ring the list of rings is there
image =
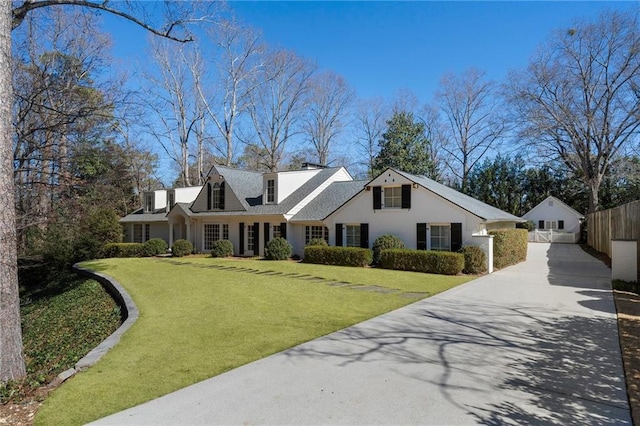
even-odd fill
[[[109,292],[111,297],[120,306],[120,313],[123,319],[122,324],[116,331],[114,331],[109,337],[104,339],[98,346],[91,350],[88,354],[82,357],[73,368],[70,368],[62,373],[58,374],[58,377],[51,383],[51,386],[55,387],[60,385],[65,380],[73,377],[76,373],[94,365],[104,354],[106,354],[111,348],[113,348],[119,341],[122,335],[136,322],[138,319],[138,308],[136,304],[129,296],[129,293],[120,285],[119,282],[113,278],[94,272],[89,269],[82,268],[77,264],[73,265],[73,270],[80,274],[88,276],[98,281]]]

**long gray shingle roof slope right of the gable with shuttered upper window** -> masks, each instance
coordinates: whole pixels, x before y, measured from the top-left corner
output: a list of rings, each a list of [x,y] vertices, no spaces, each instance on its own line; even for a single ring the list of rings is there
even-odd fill
[[[487,222],[525,222],[522,218],[476,200],[425,176],[416,176],[396,169],[392,170]]]

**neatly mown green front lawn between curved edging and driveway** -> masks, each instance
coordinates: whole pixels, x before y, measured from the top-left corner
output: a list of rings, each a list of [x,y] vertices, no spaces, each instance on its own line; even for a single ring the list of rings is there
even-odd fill
[[[424,297],[473,278],[203,257],[83,266],[118,280],[140,318],[98,364],[50,395],[36,424],[98,419],[418,300],[406,293]]]

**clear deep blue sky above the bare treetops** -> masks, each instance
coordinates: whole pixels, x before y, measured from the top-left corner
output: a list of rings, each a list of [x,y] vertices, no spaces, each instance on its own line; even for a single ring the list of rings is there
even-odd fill
[[[627,2],[230,2],[266,42],[296,51],[343,75],[361,98],[392,99],[400,89],[430,101],[446,72],[476,67],[495,80],[526,66],[555,29]],[[106,18],[106,17],[105,17]],[[147,35],[105,19],[114,54],[142,61]]]

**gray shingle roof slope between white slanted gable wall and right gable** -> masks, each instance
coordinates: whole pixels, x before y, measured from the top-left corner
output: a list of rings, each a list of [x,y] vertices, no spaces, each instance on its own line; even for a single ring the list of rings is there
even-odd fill
[[[291,218],[294,222],[321,221],[364,189],[366,181],[333,182]]]

